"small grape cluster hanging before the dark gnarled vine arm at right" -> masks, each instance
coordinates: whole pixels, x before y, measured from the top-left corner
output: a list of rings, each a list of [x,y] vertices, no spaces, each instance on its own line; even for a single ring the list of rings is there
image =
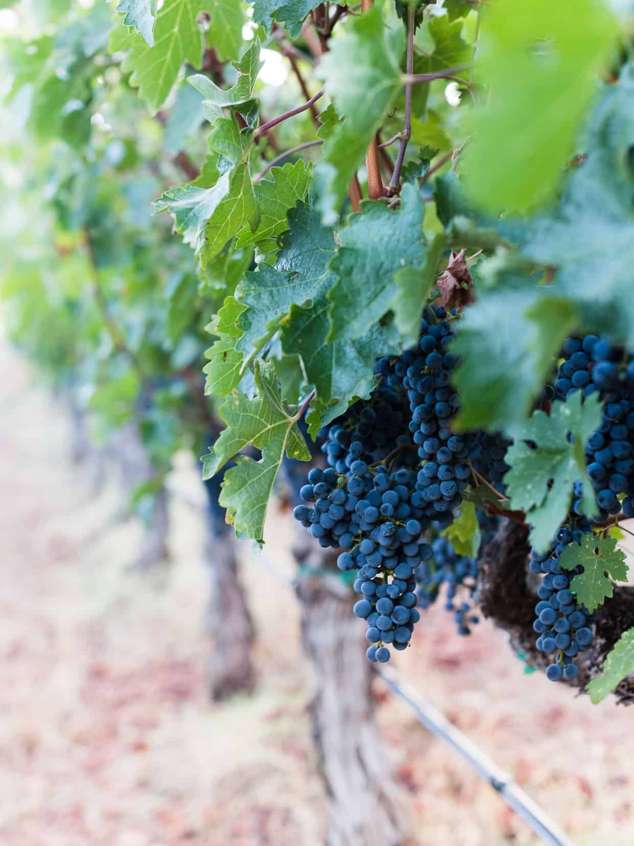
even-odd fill
[[[531,552],[531,571],[544,574],[538,588],[537,619],[533,629],[538,633],[538,650],[554,656],[553,662],[546,667],[546,677],[551,681],[577,678],[579,668],[573,659],[588,650],[593,642],[593,615],[587,608],[577,605],[570,590],[572,578],[582,568],[564,572],[559,564],[566,547],[578,543],[590,530],[587,520],[571,520],[561,526],[548,552],[534,549]]]

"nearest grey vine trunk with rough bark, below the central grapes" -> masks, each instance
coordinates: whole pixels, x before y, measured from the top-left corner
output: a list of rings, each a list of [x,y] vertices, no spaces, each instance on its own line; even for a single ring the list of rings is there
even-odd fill
[[[314,670],[310,717],[330,804],[327,844],[399,846],[407,811],[381,743],[374,669],[363,654],[368,644],[352,613],[353,592],[337,576],[338,552],[318,547],[303,530],[295,549],[306,572],[297,593],[303,648]]]

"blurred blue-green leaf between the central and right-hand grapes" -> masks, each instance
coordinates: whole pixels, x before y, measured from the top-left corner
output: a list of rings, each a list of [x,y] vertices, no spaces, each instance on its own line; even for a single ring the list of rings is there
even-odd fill
[[[453,378],[461,399],[456,426],[514,437],[577,315],[569,299],[531,277],[504,271],[498,282],[478,290],[451,345],[461,357]]]

